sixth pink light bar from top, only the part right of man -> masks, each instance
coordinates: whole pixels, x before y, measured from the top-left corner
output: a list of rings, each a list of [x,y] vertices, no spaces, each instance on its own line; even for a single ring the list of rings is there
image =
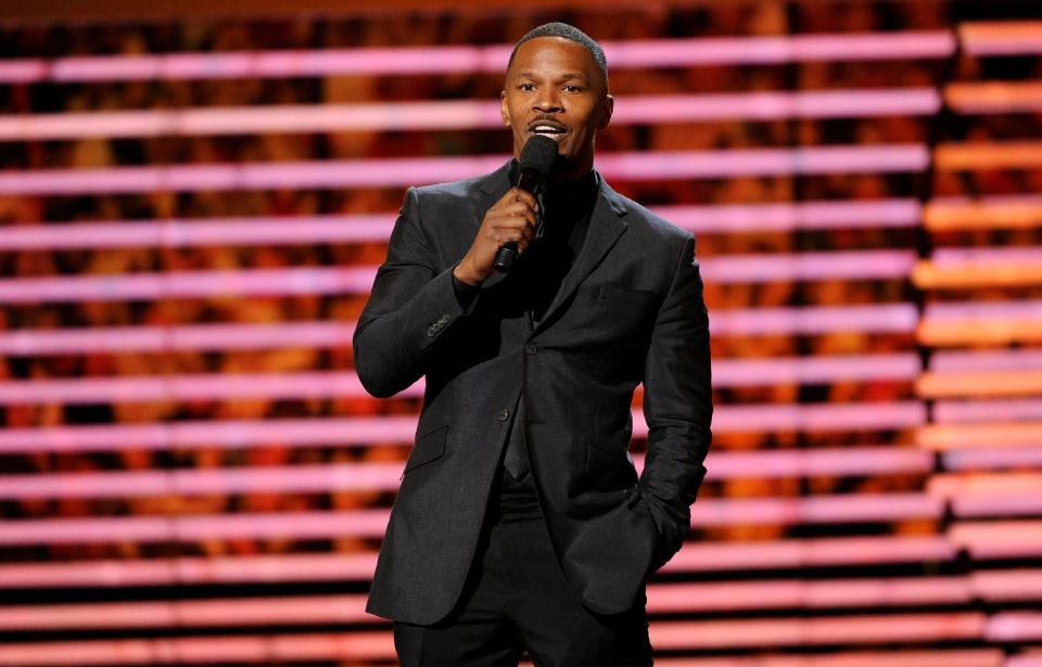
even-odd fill
[[[874,304],[716,309],[711,318],[714,335],[814,335],[837,331],[911,333],[919,313],[912,304]]]

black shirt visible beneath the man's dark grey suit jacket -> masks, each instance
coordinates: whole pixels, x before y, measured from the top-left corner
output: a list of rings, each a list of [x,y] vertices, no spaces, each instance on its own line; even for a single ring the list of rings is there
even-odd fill
[[[510,182],[518,182],[518,161],[510,164]],[[546,313],[564,280],[575,264],[586,240],[594,204],[597,201],[599,177],[590,170],[582,178],[564,183],[548,183],[537,193],[542,225],[537,238],[511,269],[511,279],[523,285],[524,307],[530,325]],[[466,310],[480,291],[453,277],[456,298]],[[512,428],[520,428],[519,423]],[[523,441],[523,440],[522,440]],[[539,516],[539,502],[531,474],[516,479],[500,465],[498,509],[501,521]],[[494,503],[495,504],[495,503]]]

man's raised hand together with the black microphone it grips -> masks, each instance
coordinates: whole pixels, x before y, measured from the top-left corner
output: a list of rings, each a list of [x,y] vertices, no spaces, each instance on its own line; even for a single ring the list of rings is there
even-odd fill
[[[479,285],[494,271],[510,270],[538,225],[538,204],[533,192],[546,180],[557,159],[557,142],[536,134],[521,151],[521,176],[485,213],[481,229],[467,255],[454,271],[457,279]]]

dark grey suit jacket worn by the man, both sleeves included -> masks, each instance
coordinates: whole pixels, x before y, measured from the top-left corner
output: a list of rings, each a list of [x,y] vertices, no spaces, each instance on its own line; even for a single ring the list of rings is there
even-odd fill
[[[590,610],[630,608],[690,530],[712,414],[694,238],[601,179],[586,242],[534,328],[509,277],[463,311],[452,271],[510,188],[508,167],[409,189],[358,320],[356,367],[371,394],[427,377],[369,595],[379,616],[425,625],[452,610],[519,399],[555,551]],[[641,382],[638,479],[628,445]]]

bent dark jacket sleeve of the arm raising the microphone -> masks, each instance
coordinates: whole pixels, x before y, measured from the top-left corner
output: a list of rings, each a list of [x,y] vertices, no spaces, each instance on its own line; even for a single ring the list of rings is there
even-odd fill
[[[391,232],[387,258],[377,271],[369,300],[355,328],[358,379],[367,392],[386,398],[425,372],[427,360],[467,311],[453,287],[453,269],[439,270],[434,243],[409,188]]]

